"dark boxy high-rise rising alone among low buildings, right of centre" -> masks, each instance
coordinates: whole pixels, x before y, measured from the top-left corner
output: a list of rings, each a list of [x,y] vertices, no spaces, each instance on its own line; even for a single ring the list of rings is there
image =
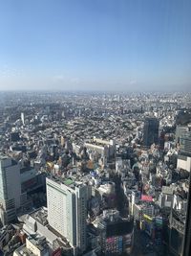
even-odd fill
[[[159,120],[154,117],[146,118],[143,128],[143,146],[150,147],[153,143],[158,143]]]

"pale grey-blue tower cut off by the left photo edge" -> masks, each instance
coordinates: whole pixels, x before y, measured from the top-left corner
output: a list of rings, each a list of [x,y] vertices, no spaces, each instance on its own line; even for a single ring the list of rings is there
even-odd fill
[[[20,168],[10,157],[0,154],[0,219],[3,224],[15,220],[20,198]]]

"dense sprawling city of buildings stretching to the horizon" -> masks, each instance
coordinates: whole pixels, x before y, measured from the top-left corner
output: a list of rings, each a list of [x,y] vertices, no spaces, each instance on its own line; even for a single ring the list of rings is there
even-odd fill
[[[0,253],[182,255],[190,99],[2,92]]]

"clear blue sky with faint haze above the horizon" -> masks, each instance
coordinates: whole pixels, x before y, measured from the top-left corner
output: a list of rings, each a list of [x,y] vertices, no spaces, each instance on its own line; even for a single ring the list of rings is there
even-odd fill
[[[190,0],[0,0],[0,90],[191,90]]]

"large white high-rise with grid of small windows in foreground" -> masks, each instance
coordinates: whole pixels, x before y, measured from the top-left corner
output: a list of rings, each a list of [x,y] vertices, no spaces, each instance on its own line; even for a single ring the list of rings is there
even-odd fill
[[[46,183],[49,224],[82,253],[86,249],[88,186],[54,177]]]

